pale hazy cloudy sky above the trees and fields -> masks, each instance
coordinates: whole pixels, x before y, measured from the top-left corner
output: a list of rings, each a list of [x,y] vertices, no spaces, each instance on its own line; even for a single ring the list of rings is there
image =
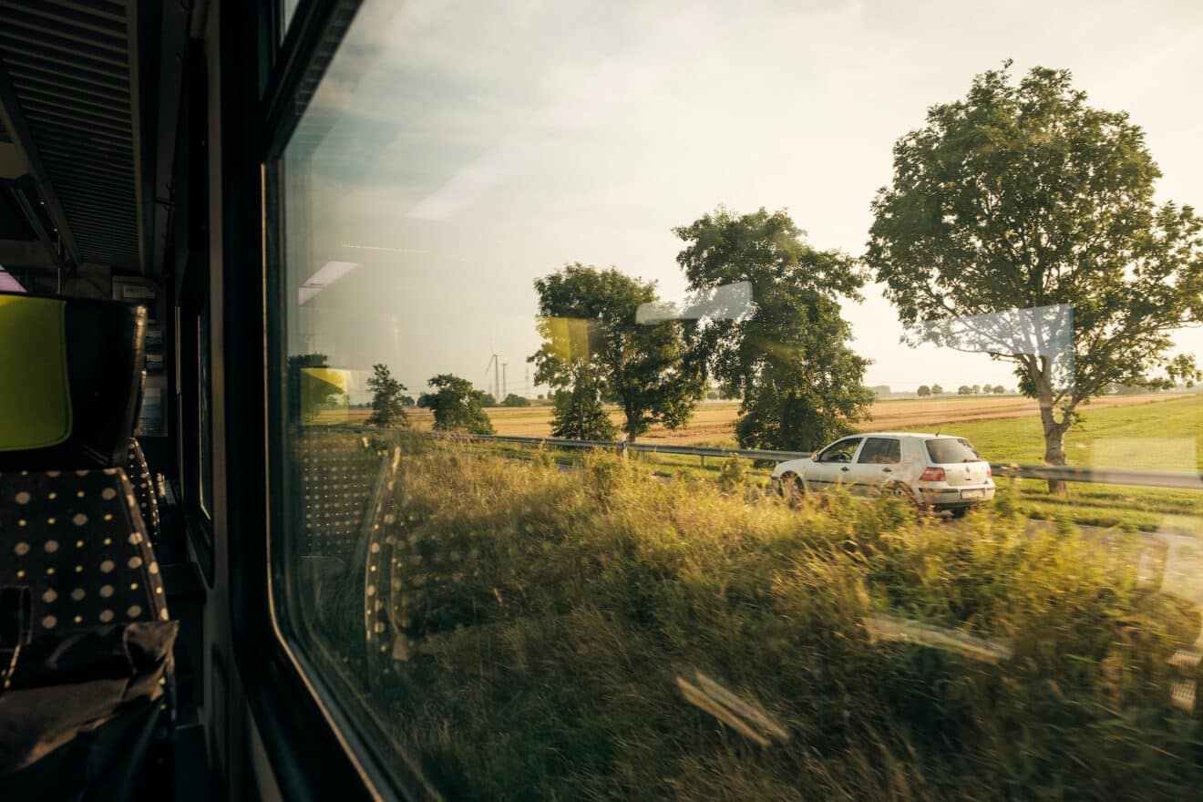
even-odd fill
[[[533,281],[568,262],[680,298],[672,227],[718,204],[784,208],[859,256],[893,143],[1005,59],[1072,70],[1144,127],[1158,200],[1203,204],[1201,35],[1189,0],[368,0],[285,154],[290,351],[384,362],[415,392],[437,373],[487,388],[497,354],[522,393]],[[843,314],[865,384],[1015,386],[983,355],[900,344],[864,295]]]

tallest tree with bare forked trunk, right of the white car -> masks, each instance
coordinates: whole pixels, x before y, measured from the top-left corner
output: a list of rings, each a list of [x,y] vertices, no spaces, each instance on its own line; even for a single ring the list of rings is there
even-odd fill
[[[1015,363],[1062,465],[1079,405],[1108,385],[1198,376],[1171,351],[1203,314],[1203,239],[1191,207],[1155,203],[1161,172],[1126,113],[1088,105],[1067,70],[1009,66],[895,143],[865,260],[911,339]]]

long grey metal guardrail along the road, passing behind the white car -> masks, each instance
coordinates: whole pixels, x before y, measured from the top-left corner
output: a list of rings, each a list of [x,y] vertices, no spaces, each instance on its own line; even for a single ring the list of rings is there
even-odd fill
[[[330,427],[354,432],[375,432],[383,429],[358,426]],[[742,457],[764,462],[784,462],[811,456],[808,451],[764,451],[759,448],[712,448],[704,446],[682,446],[657,442],[623,442],[621,440],[568,440],[563,438],[525,438],[505,434],[454,434],[431,432],[429,436],[470,440],[484,442],[510,442],[514,445],[537,446],[540,448],[603,448],[608,451],[636,451],[641,453],[686,455],[699,457],[701,464],[706,458],[727,459]],[[1080,468],[1077,465],[1020,465],[1015,463],[990,463],[995,476],[1015,479],[1062,480],[1066,482],[1086,482],[1096,485],[1131,485],[1137,487],[1161,487],[1173,489],[1203,489],[1203,473],[1181,473],[1169,470],[1131,470],[1127,468]]]

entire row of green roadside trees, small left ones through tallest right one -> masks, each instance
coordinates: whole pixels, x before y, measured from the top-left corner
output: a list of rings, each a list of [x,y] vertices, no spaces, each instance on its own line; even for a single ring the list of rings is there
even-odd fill
[[[1065,464],[1065,433],[1092,397],[1203,379],[1193,356],[1171,354],[1174,329],[1203,322],[1203,222],[1189,206],[1155,203],[1161,172],[1126,113],[1090,107],[1068,71],[1015,81],[1009,66],[977,76],[965,99],[932,106],[895,143],[859,260],[812,248],[784,210],[719,207],[674,230],[677,263],[703,299],[747,283],[751,303],[733,314],[645,325],[653,283],[580,263],[537,280],[543,345],[529,361],[555,390],[555,433],[614,436],[605,402],[628,440],[653,423],[677,428],[716,382],[740,399],[743,447],[807,450],[841,435],[873,394],[840,299],[859,299],[870,278],[905,341],[1013,364],[1019,391],[1039,402],[1051,464]],[[466,411],[484,400],[466,380],[431,385],[419,404],[440,428],[486,424]],[[397,411],[373,405],[381,421]]]

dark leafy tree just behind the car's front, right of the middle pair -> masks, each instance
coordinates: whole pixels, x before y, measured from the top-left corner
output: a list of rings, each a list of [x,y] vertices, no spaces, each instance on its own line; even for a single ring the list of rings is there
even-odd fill
[[[811,450],[869,417],[869,361],[848,346],[852,329],[840,315],[840,297],[859,299],[864,284],[852,259],[806,244],[786,212],[721,207],[675,233],[692,290],[752,287],[745,308],[712,314],[698,333],[715,378],[741,399],[741,446]]]

